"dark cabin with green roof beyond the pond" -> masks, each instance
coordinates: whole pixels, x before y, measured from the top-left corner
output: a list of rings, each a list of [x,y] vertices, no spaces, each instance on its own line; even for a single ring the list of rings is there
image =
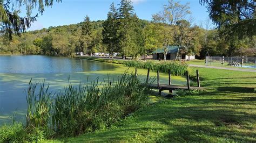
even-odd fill
[[[175,60],[177,53],[178,53],[178,46],[168,46],[167,48],[167,55],[166,55],[166,60]],[[186,48],[185,47],[180,47],[180,51],[179,51],[179,56],[178,59],[179,60],[194,60],[195,59],[195,55],[187,55],[186,52]],[[181,54],[181,56],[180,56]],[[164,48],[158,48],[156,51],[153,52],[153,59],[154,60],[164,60]]]

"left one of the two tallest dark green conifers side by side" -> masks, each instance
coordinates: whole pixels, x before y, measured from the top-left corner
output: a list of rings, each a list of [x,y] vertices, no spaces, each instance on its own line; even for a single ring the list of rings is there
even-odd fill
[[[118,13],[114,3],[110,5],[110,12],[107,13],[107,19],[103,23],[103,44],[106,45],[107,51],[109,51],[111,57],[113,58],[113,52],[117,50],[118,47],[118,23],[117,23]],[[109,55],[109,56],[110,56]]]

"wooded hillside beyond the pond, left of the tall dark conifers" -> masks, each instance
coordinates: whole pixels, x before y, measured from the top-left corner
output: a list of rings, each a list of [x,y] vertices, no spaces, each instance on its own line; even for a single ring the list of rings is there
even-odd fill
[[[96,51],[104,51],[101,45],[103,22],[103,20],[91,22],[93,32],[91,36],[97,45]],[[84,23],[24,32],[21,37],[14,36],[12,40],[2,36],[0,52],[45,55],[55,55],[58,52],[57,54],[71,55],[80,46],[79,38]]]

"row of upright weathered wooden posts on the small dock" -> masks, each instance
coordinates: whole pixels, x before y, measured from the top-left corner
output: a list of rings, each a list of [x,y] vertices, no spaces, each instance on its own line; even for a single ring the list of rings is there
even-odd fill
[[[200,87],[200,78],[199,78],[199,71],[197,71],[197,86]],[[135,76],[137,77],[138,69],[135,68]],[[146,78],[146,83],[149,82],[149,76],[150,76],[150,68],[147,69],[147,78]],[[169,77],[169,85],[172,84],[171,80],[171,70],[168,70],[168,77]],[[190,90],[190,76],[188,74],[188,71],[186,71],[186,78],[187,78],[187,89]],[[160,73],[159,70],[157,70],[157,87],[160,88]],[[169,92],[172,92],[171,90]]]

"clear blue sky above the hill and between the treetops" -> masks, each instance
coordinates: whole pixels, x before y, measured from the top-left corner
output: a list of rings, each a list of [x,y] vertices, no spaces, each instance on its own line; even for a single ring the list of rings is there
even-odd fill
[[[151,20],[152,14],[159,12],[163,9],[163,5],[168,2],[168,0],[132,1],[138,17],[146,20]],[[39,15],[37,22],[32,24],[30,30],[80,23],[86,15],[91,20],[104,20],[112,2],[117,6],[120,0],[62,0],[62,3],[54,3],[52,8],[45,8],[43,16]],[[182,4],[187,2],[190,3],[194,23],[200,25],[208,17],[205,6],[201,6],[199,0],[180,1]],[[36,15],[37,12],[35,10],[33,14]]]

